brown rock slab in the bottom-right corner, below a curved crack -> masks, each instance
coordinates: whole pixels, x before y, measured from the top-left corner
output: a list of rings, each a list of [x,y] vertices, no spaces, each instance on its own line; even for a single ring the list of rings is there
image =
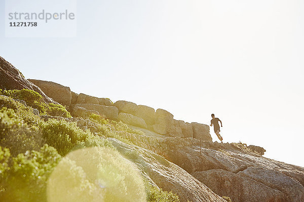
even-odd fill
[[[284,201],[304,201],[304,187],[283,173],[263,168],[248,168],[239,172],[241,176],[250,177],[262,184],[285,193]]]

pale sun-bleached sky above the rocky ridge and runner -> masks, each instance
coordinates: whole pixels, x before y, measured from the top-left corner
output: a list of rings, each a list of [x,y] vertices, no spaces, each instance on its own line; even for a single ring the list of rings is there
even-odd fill
[[[6,37],[0,7],[0,56],[26,78],[186,122],[214,113],[224,142],[304,167],[303,1],[77,1],[74,37]]]

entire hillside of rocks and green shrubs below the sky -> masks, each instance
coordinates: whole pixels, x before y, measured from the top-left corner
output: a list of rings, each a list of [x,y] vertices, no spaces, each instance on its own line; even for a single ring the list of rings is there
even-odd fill
[[[1,201],[304,201],[304,168],[213,142],[206,124],[25,79],[1,57],[0,78]]]

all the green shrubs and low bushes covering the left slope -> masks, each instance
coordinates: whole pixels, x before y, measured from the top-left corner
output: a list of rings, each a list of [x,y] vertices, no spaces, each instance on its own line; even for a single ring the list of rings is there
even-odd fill
[[[0,201],[66,201],[67,198],[63,195],[60,198],[54,196],[60,192],[60,189],[65,188],[79,190],[77,192],[79,194],[73,196],[74,201],[94,201],[95,199],[92,198],[95,198],[93,196],[96,194],[112,198],[114,196],[109,195],[111,193],[117,197],[116,201],[125,201],[127,195],[131,194],[128,187],[134,190],[142,189],[139,178],[134,178],[135,181],[132,178],[135,175],[132,173],[135,169],[132,169],[128,163],[123,164],[124,158],[119,156],[111,143],[106,140],[106,137],[113,137],[130,143],[126,134],[143,135],[141,131],[132,130],[121,122],[91,115],[90,119],[97,123],[98,127],[98,132],[93,134],[90,130],[80,129],[75,122],[56,119],[44,121],[34,115],[33,109],[38,109],[40,114],[70,117],[64,107],[44,103],[41,95],[36,92],[0,90],[0,94],[6,95],[0,96]],[[27,106],[14,99],[24,100]],[[95,177],[90,175],[92,173],[87,169],[88,167],[82,166],[90,164],[88,159],[87,162],[79,162],[69,156],[74,151],[91,147],[111,150],[109,153],[105,150],[98,151],[101,152],[98,153],[99,156],[93,158],[95,161],[104,162],[103,167],[98,166],[98,175],[95,173]],[[130,155],[136,158],[136,154]],[[86,159],[85,156],[82,159]],[[65,172],[60,172],[60,169],[56,171],[59,165],[68,169]],[[94,165],[96,169],[95,164],[91,163],[91,165]],[[109,177],[107,173],[113,171],[114,168],[120,174],[113,178],[115,181],[106,181]],[[52,178],[52,175],[62,177]],[[68,184],[70,187],[65,187],[63,178],[71,179],[74,184],[70,183]],[[99,181],[93,179],[99,179]],[[59,186],[61,182],[63,184]],[[121,186],[113,185],[113,187],[119,187],[115,190],[118,192],[112,190],[102,193],[100,187],[104,185],[98,182],[117,183]],[[56,185],[61,188],[56,189]],[[53,187],[53,189],[48,187]],[[147,201],[179,201],[176,194],[163,191],[158,187],[149,185],[142,190]],[[136,193],[142,192],[136,191]],[[142,197],[142,195],[136,197]]]

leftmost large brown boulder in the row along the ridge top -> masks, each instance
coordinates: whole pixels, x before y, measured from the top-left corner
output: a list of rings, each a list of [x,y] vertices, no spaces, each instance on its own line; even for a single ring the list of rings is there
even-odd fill
[[[42,81],[36,79],[28,79],[30,82],[39,86],[49,97],[63,106],[71,104],[71,90],[69,87],[60,85],[52,81]]]

